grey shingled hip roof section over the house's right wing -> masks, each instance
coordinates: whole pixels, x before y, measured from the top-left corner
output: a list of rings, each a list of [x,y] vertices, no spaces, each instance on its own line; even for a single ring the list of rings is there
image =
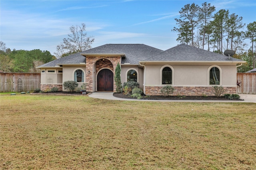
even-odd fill
[[[192,47],[186,44],[180,44],[172,47],[162,53],[148,57],[143,61],[193,61],[193,62],[214,62],[214,61],[227,61],[227,62],[242,62],[244,61],[227,56]]]

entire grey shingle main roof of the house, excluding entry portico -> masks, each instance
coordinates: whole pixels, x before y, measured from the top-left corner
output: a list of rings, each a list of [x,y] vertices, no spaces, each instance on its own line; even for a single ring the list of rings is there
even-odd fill
[[[139,61],[242,61],[232,57],[229,60],[224,55],[185,44],[177,45],[166,51],[144,44],[106,44],[56,59],[37,68],[53,67],[58,64],[86,63],[86,57],[81,54],[85,56],[86,54],[124,54],[126,58],[122,58],[121,64],[138,64]]]

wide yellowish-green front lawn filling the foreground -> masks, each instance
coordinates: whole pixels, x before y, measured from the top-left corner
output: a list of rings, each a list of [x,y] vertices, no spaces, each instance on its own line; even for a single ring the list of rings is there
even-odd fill
[[[0,169],[256,169],[256,104],[0,95]]]

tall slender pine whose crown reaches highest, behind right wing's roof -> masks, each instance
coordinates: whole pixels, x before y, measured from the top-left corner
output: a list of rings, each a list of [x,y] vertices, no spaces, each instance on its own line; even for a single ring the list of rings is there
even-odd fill
[[[207,4],[206,2],[204,2],[204,4],[202,4],[202,7],[199,8],[199,18],[201,21],[201,32],[202,32],[202,49],[204,49],[204,44],[205,44],[205,39],[206,39],[206,35],[209,32],[209,22],[210,19],[212,19],[212,13],[215,11],[215,7],[211,6],[211,4]],[[209,42],[209,41],[208,41]],[[209,49],[209,46],[208,46]]]

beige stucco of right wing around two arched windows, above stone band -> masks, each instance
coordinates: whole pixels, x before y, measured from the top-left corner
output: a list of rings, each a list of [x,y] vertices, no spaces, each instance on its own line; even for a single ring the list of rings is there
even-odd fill
[[[172,86],[209,86],[209,69],[220,68],[220,85],[236,86],[236,65],[146,65],[146,86],[162,86],[161,68],[171,66]]]

